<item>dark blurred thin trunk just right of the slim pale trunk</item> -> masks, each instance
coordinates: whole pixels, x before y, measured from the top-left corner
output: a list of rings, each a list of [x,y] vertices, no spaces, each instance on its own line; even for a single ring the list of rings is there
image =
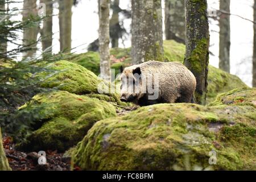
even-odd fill
[[[114,0],[113,14],[110,19],[110,32],[112,32],[112,36],[111,36],[112,48],[118,47],[118,40],[119,40],[118,31],[119,31],[119,0]]]

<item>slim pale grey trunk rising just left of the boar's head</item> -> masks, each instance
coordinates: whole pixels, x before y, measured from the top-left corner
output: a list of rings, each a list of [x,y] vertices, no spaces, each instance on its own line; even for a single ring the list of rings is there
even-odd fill
[[[109,53],[109,10],[110,0],[100,0],[99,4],[98,37],[100,43],[101,77],[110,81],[110,53]]]

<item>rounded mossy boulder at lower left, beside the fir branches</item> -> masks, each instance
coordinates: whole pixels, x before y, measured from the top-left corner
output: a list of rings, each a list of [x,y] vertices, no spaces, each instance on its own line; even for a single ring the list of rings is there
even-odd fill
[[[27,151],[65,151],[79,142],[95,122],[116,116],[109,102],[65,91],[38,94],[19,111],[19,115],[38,113],[33,116],[35,131],[18,144]]]

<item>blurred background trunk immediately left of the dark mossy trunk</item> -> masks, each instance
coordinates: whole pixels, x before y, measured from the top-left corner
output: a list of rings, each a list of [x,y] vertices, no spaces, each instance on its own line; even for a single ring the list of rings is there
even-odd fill
[[[166,40],[185,44],[185,1],[165,0]]]

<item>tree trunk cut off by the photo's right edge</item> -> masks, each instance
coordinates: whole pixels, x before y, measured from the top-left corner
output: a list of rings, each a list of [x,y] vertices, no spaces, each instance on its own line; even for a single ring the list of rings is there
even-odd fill
[[[256,0],[253,6],[253,18],[256,21]],[[256,24],[253,25],[254,38],[253,38],[253,87],[256,87]]]

